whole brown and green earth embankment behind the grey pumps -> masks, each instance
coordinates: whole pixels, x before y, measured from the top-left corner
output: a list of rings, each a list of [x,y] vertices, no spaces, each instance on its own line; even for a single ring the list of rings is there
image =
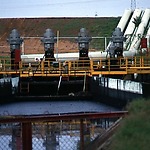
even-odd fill
[[[21,37],[42,37],[47,28],[60,37],[77,37],[80,28],[86,28],[92,37],[111,37],[120,17],[78,17],[78,18],[1,18],[0,19],[0,55],[10,55],[6,39],[12,29],[17,29]],[[24,39],[26,54],[43,53],[40,39]],[[61,42],[60,42],[61,41]],[[4,47],[3,47],[4,46]],[[92,39],[90,50],[104,50],[104,39]],[[77,50],[74,38],[59,40],[59,52]],[[75,51],[74,51],[75,52]]]

